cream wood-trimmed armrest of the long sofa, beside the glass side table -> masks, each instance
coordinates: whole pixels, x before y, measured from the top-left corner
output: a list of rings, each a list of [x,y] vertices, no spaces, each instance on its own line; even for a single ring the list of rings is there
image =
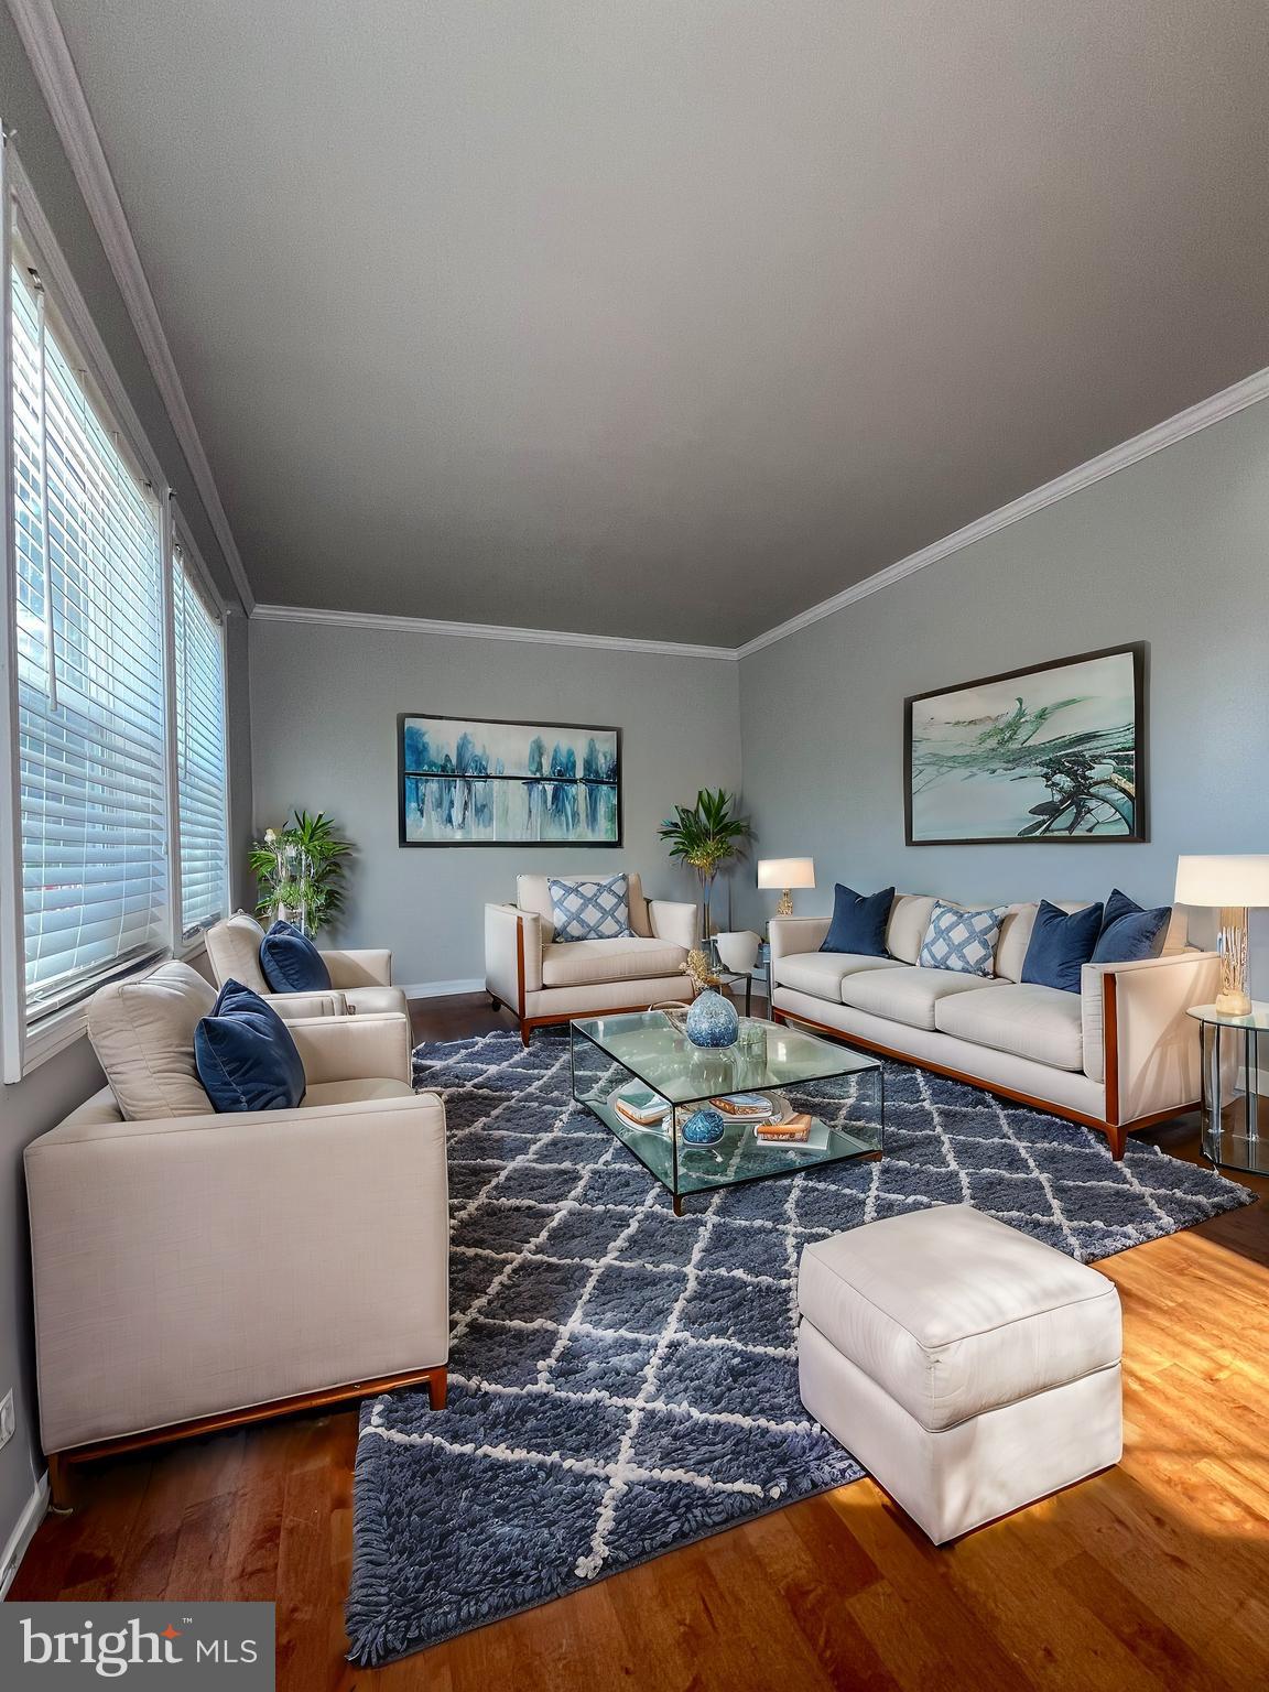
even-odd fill
[[[1218,992],[1217,953],[1088,963],[1079,978],[1085,1074],[1107,1088],[1107,1122],[1193,1107],[1201,1093],[1198,1024],[1186,1012]]]

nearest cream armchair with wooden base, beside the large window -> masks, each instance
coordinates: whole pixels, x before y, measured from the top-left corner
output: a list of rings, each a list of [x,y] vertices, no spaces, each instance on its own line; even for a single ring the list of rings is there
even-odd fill
[[[399,1015],[289,1030],[296,1110],[127,1122],[105,1088],[25,1151],[54,1502],[69,1460],[425,1381],[445,1403],[445,1107],[399,1079]]]

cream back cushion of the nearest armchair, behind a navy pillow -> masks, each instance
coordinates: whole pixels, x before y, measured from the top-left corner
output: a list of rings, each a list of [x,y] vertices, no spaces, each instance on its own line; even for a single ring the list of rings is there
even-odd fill
[[[98,986],[88,1000],[88,1039],[125,1122],[212,1113],[195,1029],[215,1002],[215,988],[176,959]]]

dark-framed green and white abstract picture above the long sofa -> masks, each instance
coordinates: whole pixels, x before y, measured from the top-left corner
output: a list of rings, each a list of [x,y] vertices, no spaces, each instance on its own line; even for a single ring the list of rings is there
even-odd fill
[[[1027,677],[1041,677],[1049,672],[1054,678],[1063,670],[1095,665],[1108,658],[1132,658],[1132,722],[1130,744],[1122,743],[1123,724],[1107,724],[1098,729],[1085,726],[1069,736],[1042,736],[1039,729],[1046,722],[1059,722],[1063,711],[1074,712],[1078,706],[1095,706],[1085,697],[1054,699],[1052,702],[1027,706],[1027,689],[1019,689],[1019,704],[1012,711],[1002,711],[995,721],[992,717],[975,717],[964,722],[966,733],[961,743],[951,734],[944,743],[936,743],[932,736],[919,736],[914,746],[914,707],[929,700],[953,700],[958,694],[971,694],[983,689],[995,689],[1008,682],[1022,682]],[[1147,780],[1145,780],[1145,641],[1130,641],[1123,646],[1101,646],[1095,651],[1074,653],[1069,658],[1052,658],[1046,663],[1029,663],[1019,670],[1002,670],[997,675],[985,675],[973,682],[961,682],[953,687],[934,687],[924,694],[910,694],[904,700],[904,839],[909,846],[1140,846],[1149,839],[1147,831]],[[1073,678],[1074,680],[1074,678]],[[1044,692],[1052,694],[1049,684]],[[1061,689],[1058,689],[1061,692]],[[1088,711],[1085,712],[1090,714]],[[1095,711],[1091,712],[1095,714]],[[931,714],[926,712],[929,717]],[[958,726],[948,712],[949,728]],[[978,722],[983,728],[978,728]],[[1061,724],[1059,724],[1061,726]],[[976,733],[971,733],[976,731]],[[1044,756],[1029,756],[1027,748],[1039,751],[1051,748]],[[1036,797],[1037,783],[1042,783],[1049,797],[1029,805],[1024,812],[1025,831],[1017,834],[917,834],[915,785],[924,782],[927,790],[939,780],[953,780],[958,765],[964,766],[964,782],[978,775],[983,782],[1008,783],[1029,782]],[[941,768],[942,766],[942,768]],[[1130,795],[1125,794],[1130,775]],[[1130,805],[1130,821],[1125,827],[1115,827],[1115,814],[1125,804]],[[1047,810],[1047,814],[1044,814]],[[1073,832],[1076,824],[1091,824]]]

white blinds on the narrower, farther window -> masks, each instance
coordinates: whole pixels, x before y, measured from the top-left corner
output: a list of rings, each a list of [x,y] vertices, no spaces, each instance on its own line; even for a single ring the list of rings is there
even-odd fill
[[[225,839],[225,643],[186,552],[173,547],[176,623],[176,804],[181,934],[191,939],[228,910]]]

